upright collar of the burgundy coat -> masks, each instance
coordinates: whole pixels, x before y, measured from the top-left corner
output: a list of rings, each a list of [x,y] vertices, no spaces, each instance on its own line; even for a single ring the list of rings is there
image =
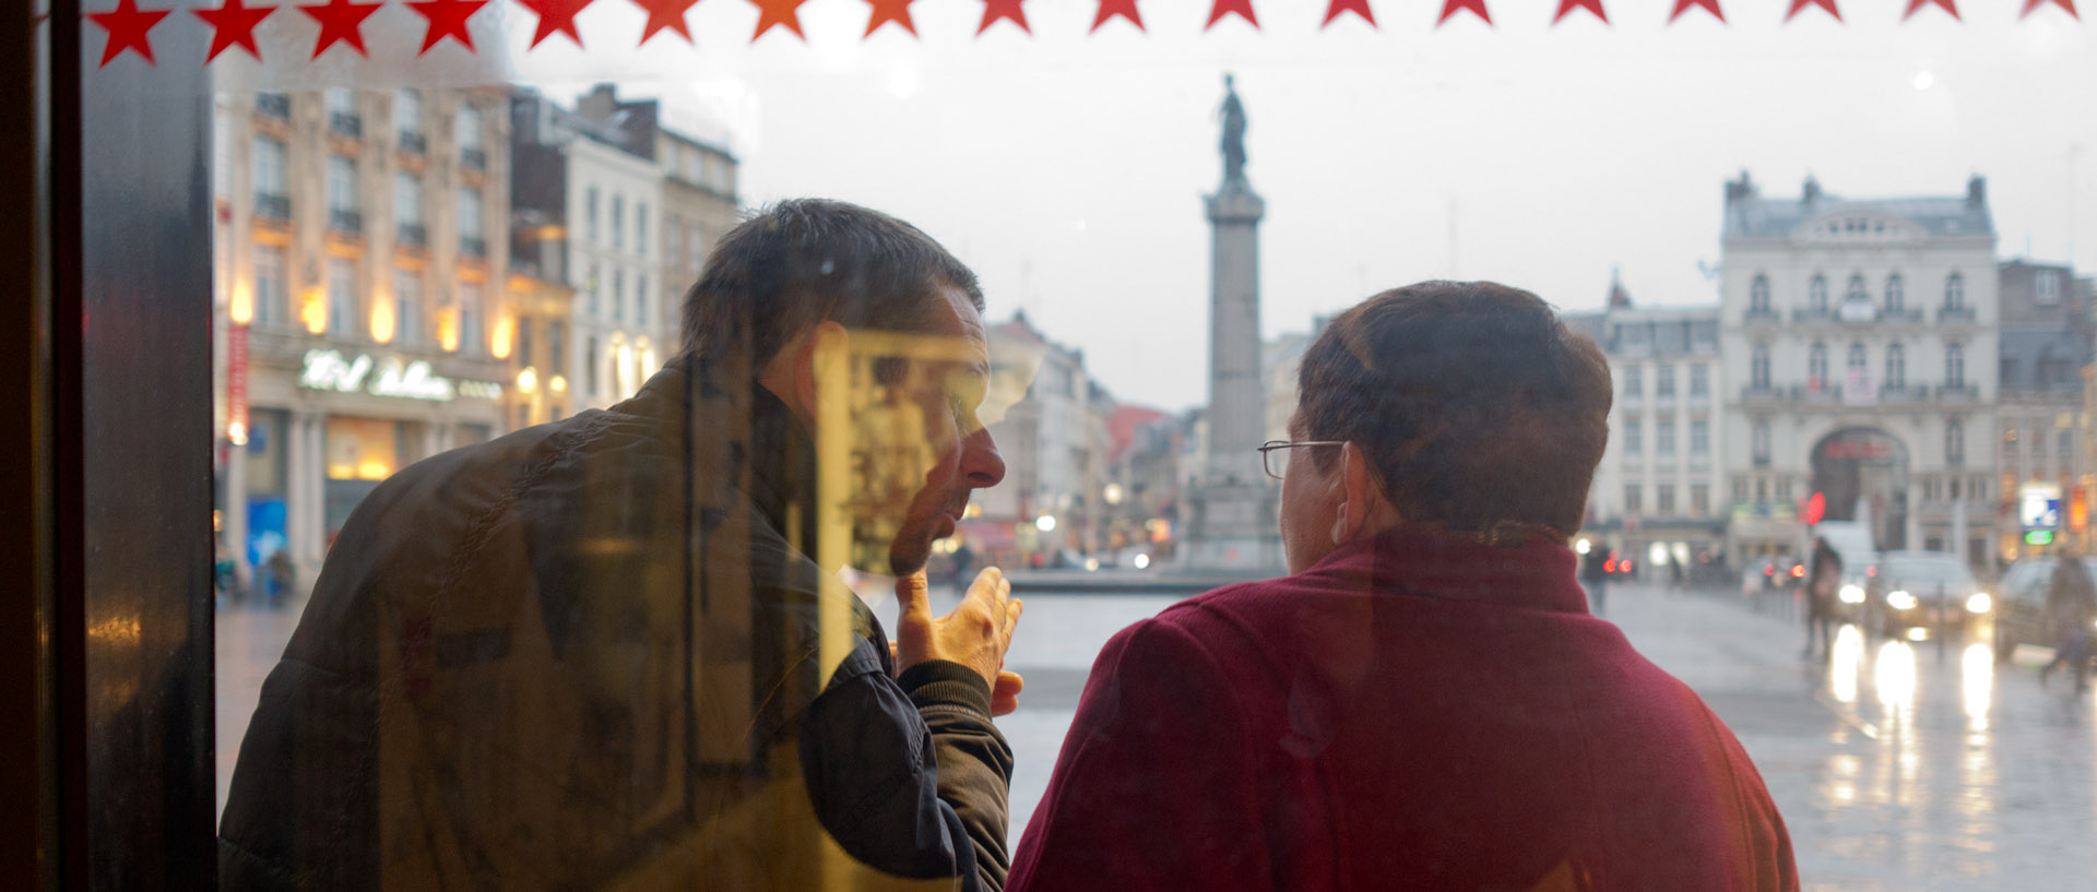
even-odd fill
[[[1483,544],[1470,536],[1401,528],[1342,544],[1302,576],[1367,582],[1376,593],[1585,614],[1587,595],[1573,576],[1575,563],[1573,549],[1556,540]]]

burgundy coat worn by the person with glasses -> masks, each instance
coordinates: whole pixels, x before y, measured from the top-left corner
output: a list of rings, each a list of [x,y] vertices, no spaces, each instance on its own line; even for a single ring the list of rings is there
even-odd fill
[[[1573,551],[1395,534],[1107,643],[1009,890],[1797,890],[1732,731]]]

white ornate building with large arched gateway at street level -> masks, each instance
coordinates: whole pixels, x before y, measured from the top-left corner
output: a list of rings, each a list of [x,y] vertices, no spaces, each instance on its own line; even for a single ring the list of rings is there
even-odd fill
[[[1720,329],[1736,559],[1806,547],[1799,511],[1883,549],[1992,555],[1996,260],[1986,180],[1839,199],[1726,184]],[[1738,563],[1738,561],[1736,561]]]

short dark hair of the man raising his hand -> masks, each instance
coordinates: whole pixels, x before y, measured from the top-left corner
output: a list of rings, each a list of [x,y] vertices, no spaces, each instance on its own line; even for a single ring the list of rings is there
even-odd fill
[[[916,226],[843,201],[780,201],[713,245],[684,295],[682,350],[747,350],[751,366],[763,366],[824,320],[921,331],[942,283],[983,310],[975,272]]]

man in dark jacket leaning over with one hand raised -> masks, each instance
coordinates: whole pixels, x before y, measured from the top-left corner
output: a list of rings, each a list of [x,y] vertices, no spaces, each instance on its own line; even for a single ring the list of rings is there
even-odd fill
[[[975,274],[835,201],[705,270],[637,396],[350,515],[241,741],[224,890],[1002,886],[1021,605],[992,567],[933,618],[923,572],[1004,475]],[[851,567],[900,578],[893,651]]]

